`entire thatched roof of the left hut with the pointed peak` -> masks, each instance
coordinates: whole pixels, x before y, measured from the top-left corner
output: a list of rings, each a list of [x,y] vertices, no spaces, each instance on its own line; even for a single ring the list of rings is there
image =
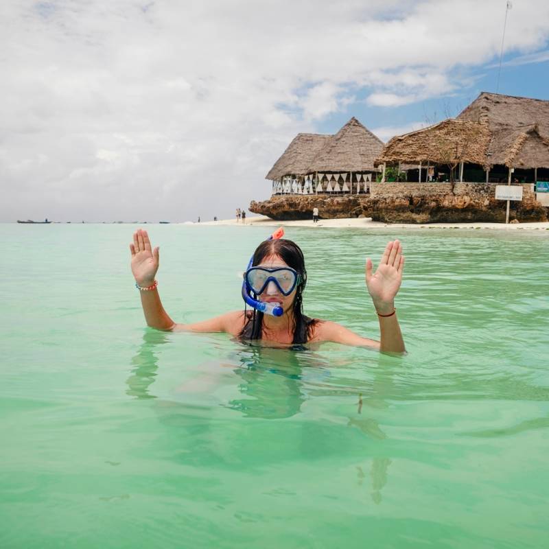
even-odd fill
[[[383,141],[351,118],[336,135],[298,134],[274,163],[266,179],[312,172],[362,172],[375,170],[373,161]]]

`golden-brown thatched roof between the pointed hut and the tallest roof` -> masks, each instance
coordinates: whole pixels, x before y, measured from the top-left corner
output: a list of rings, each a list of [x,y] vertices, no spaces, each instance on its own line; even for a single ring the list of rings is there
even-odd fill
[[[450,118],[434,126],[393,137],[376,163],[421,161],[484,165],[490,137],[484,124]]]

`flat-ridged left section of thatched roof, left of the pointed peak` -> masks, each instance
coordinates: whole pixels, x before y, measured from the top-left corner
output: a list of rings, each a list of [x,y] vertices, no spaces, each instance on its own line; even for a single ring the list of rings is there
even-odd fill
[[[274,163],[266,179],[280,179],[288,174],[308,174],[309,164],[330,139],[331,135],[299,133]]]

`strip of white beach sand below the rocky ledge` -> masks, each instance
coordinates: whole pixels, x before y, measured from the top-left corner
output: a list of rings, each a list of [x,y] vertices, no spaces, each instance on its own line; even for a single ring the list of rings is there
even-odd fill
[[[195,223],[196,225],[197,223]],[[343,219],[322,219],[318,223],[313,223],[312,220],[299,221],[275,221],[268,218],[266,215],[254,215],[246,217],[246,224],[242,221],[238,222],[235,219],[226,219],[219,221],[207,221],[200,225],[233,225],[233,226],[283,226],[283,227],[318,227],[329,229],[498,229],[503,231],[517,230],[549,230],[549,222],[535,223],[426,223],[423,225],[412,223],[381,223],[371,221],[370,218],[343,218]]]

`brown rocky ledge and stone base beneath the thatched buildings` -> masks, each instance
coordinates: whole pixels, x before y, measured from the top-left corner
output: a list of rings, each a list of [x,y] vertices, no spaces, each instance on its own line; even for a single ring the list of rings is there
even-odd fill
[[[546,221],[548,208],[535,200],[531,185],[523,185],[522,202],[511,201],[510,220]],[[482,183],[372,183],[371,194],[286,195],[251,202],[250,211],[275,220],[357,218],[388,223],[505,222],[506,202],[495,200],[494,185]]]

